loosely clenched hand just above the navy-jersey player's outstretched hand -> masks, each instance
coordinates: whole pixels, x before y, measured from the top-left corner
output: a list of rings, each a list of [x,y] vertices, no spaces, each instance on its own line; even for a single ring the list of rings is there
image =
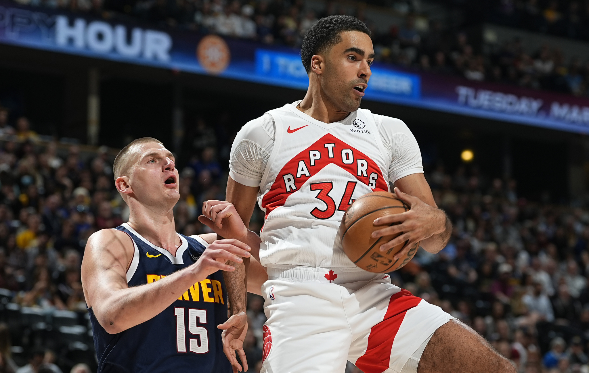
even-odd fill
[[[246,226],[233,204],[227,201],[211,199],[203,202],[203,215],[198,217],[198,221],[224,238],[240,239],[247,236]]]

